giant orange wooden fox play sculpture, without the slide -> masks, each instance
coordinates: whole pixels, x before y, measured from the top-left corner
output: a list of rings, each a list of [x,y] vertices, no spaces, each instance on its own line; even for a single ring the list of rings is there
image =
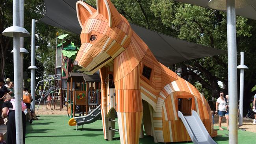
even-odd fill
[[[157,61],[110,0],[96,4],[97,9],[76,3],[82,45],[74,65],[85,74],[100,71],[104,138],[113,138],[111,119],[117,112],[121,144],[139,143],[142,121],[155,142],[190,141],[178,110],[196,111],[208,133],[215,136],[204,96]]]

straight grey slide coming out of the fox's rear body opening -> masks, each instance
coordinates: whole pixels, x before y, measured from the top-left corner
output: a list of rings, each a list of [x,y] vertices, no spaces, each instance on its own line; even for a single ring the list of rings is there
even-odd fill
[[[191,116],[184,116],[178,111],[178,116],[194,144],[217,144],[209,135],[196,111],[192,111]]]

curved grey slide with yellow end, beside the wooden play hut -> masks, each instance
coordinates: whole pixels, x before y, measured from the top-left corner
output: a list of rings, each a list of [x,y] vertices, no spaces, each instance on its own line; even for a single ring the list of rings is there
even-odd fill
[[[81,126],[91,124],[101,117],[100,105],[86,116],[74,117],[69,120],[69,126]]]

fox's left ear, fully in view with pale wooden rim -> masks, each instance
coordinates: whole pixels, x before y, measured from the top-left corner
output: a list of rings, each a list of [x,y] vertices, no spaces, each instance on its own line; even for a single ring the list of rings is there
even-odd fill
[[[86,4],[81,0],[76,2],[76,15],[81,28],[83,28],[85,20],[87,20],[94,12],[96,12],[96,9],[89,4]]]

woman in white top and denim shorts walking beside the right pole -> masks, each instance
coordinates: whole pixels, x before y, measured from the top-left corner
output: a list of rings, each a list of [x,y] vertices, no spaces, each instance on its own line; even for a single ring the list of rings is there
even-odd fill
[[[226,113],[226,101],[224,98],[224,92],[219,92],[220,97],[217,99],[216,102],[216,114],[219,114],[219,130],[223,130],[223,128],[221,128],[221,121],[223,116],[226,117],[226,124],[228,127],[228,113]]]

